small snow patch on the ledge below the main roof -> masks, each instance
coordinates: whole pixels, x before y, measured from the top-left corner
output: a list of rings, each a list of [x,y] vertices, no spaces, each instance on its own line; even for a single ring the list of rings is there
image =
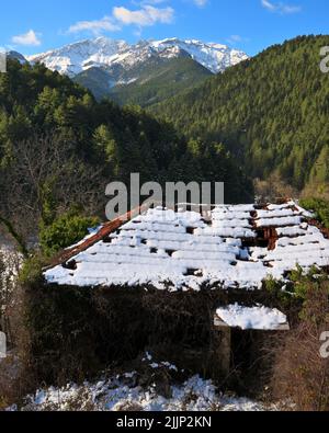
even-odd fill
[[[284,314],[266,307],[242,307],[238,304],[218,308],[217,316],[231,328],[271,331],[287,322]]]

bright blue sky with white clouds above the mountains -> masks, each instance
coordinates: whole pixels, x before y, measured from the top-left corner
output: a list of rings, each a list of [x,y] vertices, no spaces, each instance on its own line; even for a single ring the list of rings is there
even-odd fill
[[[0,46],[34,54],[98,35],[183,37],[254,55],[300,34],[328,34],[328,0],[11,0]]]

